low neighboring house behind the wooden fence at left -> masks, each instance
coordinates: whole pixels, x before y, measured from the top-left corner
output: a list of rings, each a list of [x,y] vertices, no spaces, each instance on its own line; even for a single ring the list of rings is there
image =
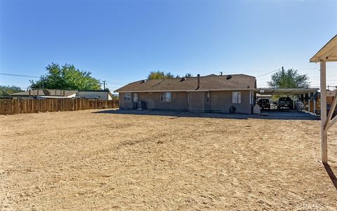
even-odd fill
[[[112,100],[112,93],[108,90],[51,90],[39,89],[28,90],[26,92],[14,93],[11,95],[13,98],[92,98],[101,100]]]

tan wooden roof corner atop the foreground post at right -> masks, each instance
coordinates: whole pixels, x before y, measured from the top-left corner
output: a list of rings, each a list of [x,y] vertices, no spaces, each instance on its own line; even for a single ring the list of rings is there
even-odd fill
[[[310,62],[337,62],[337,35],[321,48],[311,59]]]

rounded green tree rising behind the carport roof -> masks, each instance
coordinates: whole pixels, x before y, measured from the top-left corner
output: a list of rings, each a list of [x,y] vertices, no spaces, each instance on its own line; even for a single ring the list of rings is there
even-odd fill
[[[279,70],[272,74],[272,80],[268,81],[271,88],[308,88],[309,77],[306,74],[298,74],[295,69]]]

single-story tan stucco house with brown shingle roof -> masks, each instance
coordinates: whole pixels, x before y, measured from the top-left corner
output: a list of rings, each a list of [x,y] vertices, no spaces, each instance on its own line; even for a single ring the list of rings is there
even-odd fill
[[[251,114],[256,100],[256,78],[244,74],[150,79],[115,90],[120,109],[173,110]],[[143,103],[138,103],[143,102]]]

